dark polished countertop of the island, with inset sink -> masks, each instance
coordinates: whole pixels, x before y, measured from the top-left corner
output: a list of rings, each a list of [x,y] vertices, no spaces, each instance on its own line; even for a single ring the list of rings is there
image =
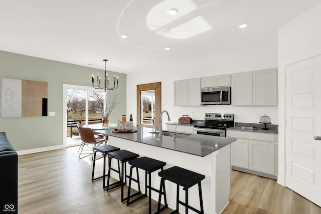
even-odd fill
[[[158,136],[158,134],[150,133],[155,131],[153,128],[135,127],[134,129],[137,129],[137,132],[114,133],[112,132],[112,129],[99,130],[96,132],[100,132],[108,136],[122,138],[124,140],[135,141],[138,143],[144,143],[151,146],[171,149],[202,157],[211,154],[236,140],[235,138],[216,137],[193,133],[186,133],[190,135],[188,137],[176,137],[176,139],[173,139],[173,137],[170,136]]]

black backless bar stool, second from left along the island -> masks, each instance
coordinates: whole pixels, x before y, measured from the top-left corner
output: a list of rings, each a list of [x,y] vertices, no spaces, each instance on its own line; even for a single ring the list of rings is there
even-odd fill
[[[127,199],[127,197],[124,198],[124,184],[126,184],[126,177],[129,177],[126,175],[126,162],[128,162],[129,160],[135,159],[137,157],[139,157],[138,154],[127,150],[119,150],[119,151],[113,151],[108,153],[109,167],[108,167],[106,191],[109,191],[118,186],[121,186],[121,199],[120,199],[121,202]],[[118,160],[118,171],[120,171],[120,173],[119,173],[119,181],[109,184],[112,158],[115,158]],[[121,162],[121,170],[119,170],[119,161]],[[138,170],[137,170],[137,175],[138,175]],[[134,181],[137,182],[137,180],[134,180]],[[139,182],[138,182],[138,185],[139,185]]]

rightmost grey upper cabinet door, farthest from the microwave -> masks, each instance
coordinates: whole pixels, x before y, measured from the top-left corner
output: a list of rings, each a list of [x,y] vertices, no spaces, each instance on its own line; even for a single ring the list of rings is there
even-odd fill
[[[253,105],[277,105],[277,69],[253,72]]]

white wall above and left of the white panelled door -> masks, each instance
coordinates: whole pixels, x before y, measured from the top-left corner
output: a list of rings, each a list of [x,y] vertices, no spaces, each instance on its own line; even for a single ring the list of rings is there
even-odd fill
[[[279,175],[285,185],[285,71],[286,65],[321,54],[321,3],[279,29]]]

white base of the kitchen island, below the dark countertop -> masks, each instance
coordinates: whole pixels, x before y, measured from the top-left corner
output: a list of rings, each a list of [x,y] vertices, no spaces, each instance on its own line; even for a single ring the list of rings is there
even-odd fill
[[[205,179],[201,182],[205,213],[221,213],[229,203],[229,194],[231,192],[231,144],[205,157],[113,136],[109,136],[108,144],[137,153],[140,157],[146,156],[164,161],[167,163],[164,169],[177,165],[205,175]],[[117,161],[112,161],[112,167],[117,168]],[[130,167],[127,165],[127,175],[129,175],[129,170]],[[118,175],[113,171],[111,172],[111,176],[115,179],[118,178]],[[135,173],[133,173],[133,176],[135,178]],[[143,192],[145,179],[144,171],[141,169],[139,169],[139,178],[141,191]],[[159,189],[161,179],[158,176],[158,171],[152,173],[151,181],[152,186]],[[176,209],[176,184],[166,180],[165,186],[168,205],[170,208]],[[132,182],[132,188],[138,189],[135,182]],[[151,191],[151,197],[157,201],[158,193]],[[185,202],[185,191],[183,187],[180,188],[180,200]],[[164,204],[163,197],[162,204]],[[200,209],[198,185],[189,188],[189,204],[196,209]],[[185,213],[185,207],[183,205],[180,204],[179,209],[181,213]],[[189,213],[195,212],[189,210]]]

